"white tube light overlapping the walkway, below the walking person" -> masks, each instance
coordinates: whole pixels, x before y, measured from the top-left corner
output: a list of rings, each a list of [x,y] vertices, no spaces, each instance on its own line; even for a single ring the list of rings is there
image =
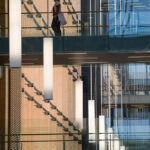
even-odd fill
[[[53,99],[53,38],[43,39],[44,99]]]

